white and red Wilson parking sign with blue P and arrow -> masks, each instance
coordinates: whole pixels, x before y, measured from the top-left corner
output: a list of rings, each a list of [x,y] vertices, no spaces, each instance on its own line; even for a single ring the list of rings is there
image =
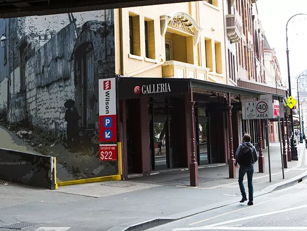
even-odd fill
[[[116,79],[99,79],[99,141],[117,141]]]

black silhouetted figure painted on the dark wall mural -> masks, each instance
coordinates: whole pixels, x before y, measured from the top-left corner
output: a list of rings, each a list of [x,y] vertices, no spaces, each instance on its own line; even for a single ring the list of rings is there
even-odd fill
[[[64,106],[66,108],[65,120],[67,122],[67,143],[68,145],[71,145],[73,141],[77,141],[77,137],[79,134],[78,121],[80,117],[77,112],[77,108],[75,107],[74,100],[68,99],[64,103]]]

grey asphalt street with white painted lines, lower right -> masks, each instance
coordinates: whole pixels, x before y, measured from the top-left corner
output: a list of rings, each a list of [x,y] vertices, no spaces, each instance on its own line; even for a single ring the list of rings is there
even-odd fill
[[[147,231],[307,231],[307,181]]]

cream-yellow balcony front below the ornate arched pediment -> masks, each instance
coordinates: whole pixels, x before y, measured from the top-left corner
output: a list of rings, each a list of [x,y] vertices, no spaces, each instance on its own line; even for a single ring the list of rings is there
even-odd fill
[[[178,61],[166,61],[162,65],[162,77],[208,79],[209,68]]]

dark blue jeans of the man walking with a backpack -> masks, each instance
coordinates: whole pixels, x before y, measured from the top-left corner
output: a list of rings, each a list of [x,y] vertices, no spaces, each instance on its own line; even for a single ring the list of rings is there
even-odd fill
[[[246,192],[243,184],[243,178],[244,175],[247,175],[247,184],[248,184],[248,200],[250,202],[253,201],[253,193],[254,193],[254,188],[253,188],[253,174],[254,174],[254,166],[242,166],[240,165],[239,168],[239,186],[240,186],[240,191],[242,194],[242,197],[246,197]]]

